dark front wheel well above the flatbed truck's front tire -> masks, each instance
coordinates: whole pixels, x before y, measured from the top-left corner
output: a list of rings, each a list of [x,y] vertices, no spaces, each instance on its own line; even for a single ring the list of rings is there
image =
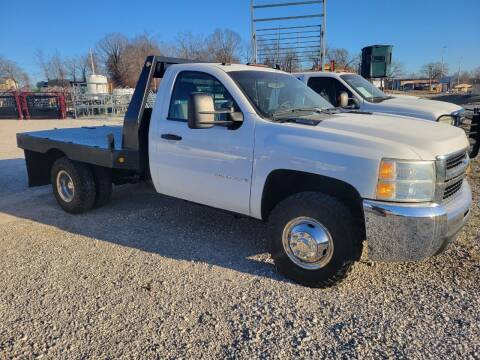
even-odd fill
[[[363,221],[362,198],[352,185],[328,176],[295,170],[275,170],[268,175],[262,195],[262,219],[268,219],[280,201],[304,191],[318,191],[339,199]]]

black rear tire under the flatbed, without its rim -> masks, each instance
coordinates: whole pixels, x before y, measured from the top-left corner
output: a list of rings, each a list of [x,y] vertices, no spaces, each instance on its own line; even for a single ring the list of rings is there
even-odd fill
[[[57,186],[57,175],[65,172],[73,183],[73,198],[65,201]],[[90,210],[95,203],[96,189],[93,172],[87,164],[71,161],[67,157],[57,159],[52,166],[51,182],[58,204],[70,214],[80,214]]]

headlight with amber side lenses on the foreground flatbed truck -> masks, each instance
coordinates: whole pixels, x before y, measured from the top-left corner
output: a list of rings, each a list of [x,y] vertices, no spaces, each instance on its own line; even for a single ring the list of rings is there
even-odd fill
[[[399,202],[432,201],[435,163],[383,159],[380,162],[377,199]]]

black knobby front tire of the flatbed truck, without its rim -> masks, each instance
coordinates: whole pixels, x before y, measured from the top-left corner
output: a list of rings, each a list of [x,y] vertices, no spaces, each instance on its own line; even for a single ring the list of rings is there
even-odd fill
[[[331,235],[333,253],[319,269],[305,269],[292,261],[283,245],[284,229],[296,218],[308,217]],[[277,270],[305,286],[325,288],[342,281],[362,253],[362,232],[358,221],[340,201],[318,192],[302,192],[281,201],[269,218],[271,255]]]

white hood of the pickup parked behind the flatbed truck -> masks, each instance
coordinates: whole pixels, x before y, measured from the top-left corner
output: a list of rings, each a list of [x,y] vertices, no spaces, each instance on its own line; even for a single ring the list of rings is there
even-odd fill
[[[436,121],[439,116],[451,114],[462,108],[445,101],[421,99],[414,96],[395,96],[380,103],[368,104],[369,109],[377,112],[412,116]]]

